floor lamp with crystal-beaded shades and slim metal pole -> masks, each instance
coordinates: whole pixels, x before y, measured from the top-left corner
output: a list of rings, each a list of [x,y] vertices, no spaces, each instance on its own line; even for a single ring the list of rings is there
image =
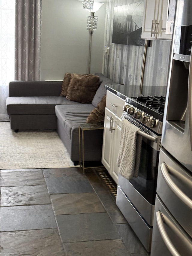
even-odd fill
[[[91,65],[91,45],[92,45],[92,35],[94,30],[97,30],[98,16],[95,16],[95,12],[99,10],[103,3],[94,2],[93,0],[84,0],[82,2],[83,9],[87,9],[90,15],[87,17],[87,29],[89,32],[89,51],[88,51],[88,65],[87,74],[90,74]]]

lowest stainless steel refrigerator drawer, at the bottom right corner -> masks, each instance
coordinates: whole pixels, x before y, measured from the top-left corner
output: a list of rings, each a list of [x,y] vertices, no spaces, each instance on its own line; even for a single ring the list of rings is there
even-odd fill
[[[178,254],[172,254],[173,248]],[[192,240],[156,196],[151,256],[191,256]],[[173,252],[173,251],[172,251]]]

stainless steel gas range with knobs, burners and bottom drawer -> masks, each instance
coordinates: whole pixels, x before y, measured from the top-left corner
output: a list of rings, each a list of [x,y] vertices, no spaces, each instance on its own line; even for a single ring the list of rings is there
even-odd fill
[[[159,150],[165,97],[126,98],[122,119],[140,128],[139,174],[131,180],[119,174],[116,204],[147,251],[151,249]]]

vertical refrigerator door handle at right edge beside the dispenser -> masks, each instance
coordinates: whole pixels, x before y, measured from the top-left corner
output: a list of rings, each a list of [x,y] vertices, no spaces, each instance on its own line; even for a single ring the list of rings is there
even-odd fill
[[[192,56],[190,56],[190,66],[189,66],[189,84],[188,84],[188,115],[189,115],[189,135],[190,135],[190,145],[192,151]]]

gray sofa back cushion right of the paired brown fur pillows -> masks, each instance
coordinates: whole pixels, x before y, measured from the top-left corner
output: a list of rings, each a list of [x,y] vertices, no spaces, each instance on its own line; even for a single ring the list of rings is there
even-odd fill
[[[97,107],[99,102],[102,100],[102,98],[107,94],[107,89],[105,88],[105,84],[114,84],[114,82],[111,79],[108,79],[104,77],[100,77],[102,80],[101,85],[97,89],[97,92],[95,93],[95,96],[93,97],[92,104],[94,107]]]

